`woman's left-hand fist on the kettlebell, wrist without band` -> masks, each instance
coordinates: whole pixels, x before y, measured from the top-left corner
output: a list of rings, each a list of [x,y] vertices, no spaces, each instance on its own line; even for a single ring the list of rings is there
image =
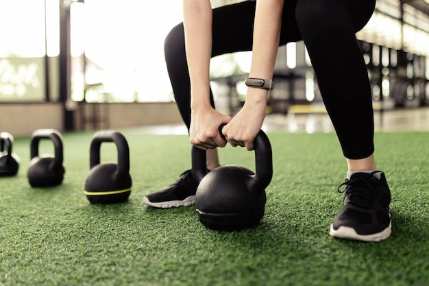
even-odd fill
[[[192,110],[189,141],[202,150],[225,147],[226,141],[219,133],[219,126],[230,120],[230,116],[217,112],[211,106]]]

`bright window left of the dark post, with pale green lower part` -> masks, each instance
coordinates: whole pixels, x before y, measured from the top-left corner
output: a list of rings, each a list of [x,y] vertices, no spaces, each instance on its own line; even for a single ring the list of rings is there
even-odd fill
[[[52,6],[58,8],[58,0],[46,0],[45,19],[45,0],[0,1],[0,101],[45,99],[45,51],[58,56],[59,50],[58,9]]]

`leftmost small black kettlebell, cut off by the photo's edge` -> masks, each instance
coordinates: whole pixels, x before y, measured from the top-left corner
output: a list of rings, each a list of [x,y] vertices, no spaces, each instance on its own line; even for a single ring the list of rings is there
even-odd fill
[[[12,153],[14,136],[8,132],[0,133],[0,176],[14,176],[19,169],[19,156]]]

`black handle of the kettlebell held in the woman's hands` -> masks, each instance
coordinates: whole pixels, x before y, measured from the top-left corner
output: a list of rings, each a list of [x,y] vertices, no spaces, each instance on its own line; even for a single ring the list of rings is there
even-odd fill
[[[221,136],[222,128],[225,124],[219,126],[219,133]],[[224,136],[223,136],[224,137]],[[224,137],[225,138],[225,137]],[[273,152],[271,150],[271,143],[269,142],[267,134],[260,130],[254,140],[255,151],[255,175],[252,182],[250,182],[250,189],[265,189],[268,187],[273,177]],[[206,151],[201,150],[193,145],[191,150],[192,161],[192,174],[194,178],[200,182],[207,174],[206,168]]]

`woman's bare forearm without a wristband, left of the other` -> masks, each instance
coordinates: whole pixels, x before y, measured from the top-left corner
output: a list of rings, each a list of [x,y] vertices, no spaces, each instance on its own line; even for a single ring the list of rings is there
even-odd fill
[[[191,108],[210,108],[212,8],[210,1],[184,0],[186,59],[191,79]]]

